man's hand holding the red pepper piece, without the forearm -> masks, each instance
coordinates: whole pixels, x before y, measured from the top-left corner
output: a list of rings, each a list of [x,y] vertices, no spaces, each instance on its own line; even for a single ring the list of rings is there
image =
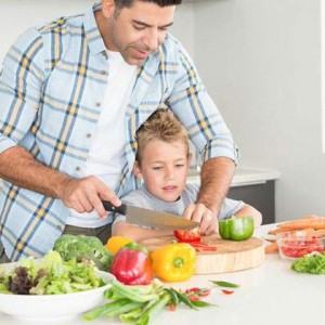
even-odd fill
[[[203,235],[211,235],[218,231],[218,219],[213,212],[203,204],[192,204],[183,212],[185,219],[199,222]]]

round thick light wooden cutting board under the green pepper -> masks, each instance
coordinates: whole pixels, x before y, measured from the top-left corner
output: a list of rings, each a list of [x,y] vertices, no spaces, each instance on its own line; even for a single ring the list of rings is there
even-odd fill
[[[153,251],[174,240],[173,236],[146,238],[139,244]],[[202,240],[217,247],[217,251],[197,252],[196,274],[229,273],[252,269],[265,260],[264,244],[260,238],[233,242],[220,238],[219,234],[203,236]]]

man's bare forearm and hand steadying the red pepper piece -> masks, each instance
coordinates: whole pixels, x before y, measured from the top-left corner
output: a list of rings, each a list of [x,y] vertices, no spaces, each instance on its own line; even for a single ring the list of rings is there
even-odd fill
[[[200,172],[200,188],[195,204],[186,207],[183,217],[200,222],[200,232],[209,235],[218,230],[220,207],[234,176],[235,162],[226,157],[205,161]]]

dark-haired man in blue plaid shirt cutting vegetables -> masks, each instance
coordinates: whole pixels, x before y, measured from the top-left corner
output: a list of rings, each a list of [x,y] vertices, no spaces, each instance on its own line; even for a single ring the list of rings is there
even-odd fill
[[[28,29],[0,78],[3,260],[43,256],[64,233],[110,236],[135,187],[135,132],[168,103],[205,164],[184,212],[216,231],[236,150],[182,46],[167,34],[181,0],[103,0],[84,15]]]

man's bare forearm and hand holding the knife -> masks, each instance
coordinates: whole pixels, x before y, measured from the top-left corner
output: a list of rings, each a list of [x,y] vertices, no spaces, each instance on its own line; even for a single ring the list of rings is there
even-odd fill
[[[75,179],[37,161],[21,146],[14,146],[0,154],[0,178],[20,187],[62,199],[78,212],[95,209],[101,217],[106,211],[101,199],[119,206],[119,198],[95,177]]]

